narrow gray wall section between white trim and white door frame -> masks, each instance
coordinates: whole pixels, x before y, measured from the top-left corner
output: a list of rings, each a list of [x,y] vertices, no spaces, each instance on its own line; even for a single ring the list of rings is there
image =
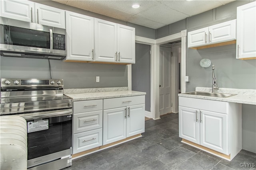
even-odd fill
[[[146,92],[145,110],[150,111],[150,45],[136,43],[132,64],[132,90]]]

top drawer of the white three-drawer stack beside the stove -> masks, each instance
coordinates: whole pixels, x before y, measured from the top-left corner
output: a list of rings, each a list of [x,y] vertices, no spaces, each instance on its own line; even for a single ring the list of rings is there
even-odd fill
[[[102,100],[86,100],[74,102],[74,114],[102,110],[102,106]]]

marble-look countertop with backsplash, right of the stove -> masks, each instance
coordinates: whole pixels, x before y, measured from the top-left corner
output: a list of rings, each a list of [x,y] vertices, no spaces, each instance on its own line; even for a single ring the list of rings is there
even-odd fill
[[[108,99],[108,98],[121,98],[128,96],[140,96],[146,95],[145,92],[137,92],[132,90],[126,90],[127,88],[91,88],[91,89],[67,89],[64,90],[64,94],[73,101],[83,100],[96,100],[96,99]],[[111,91],[114,90],[114,91]],[[75,92],[75,93],[74,93]]]

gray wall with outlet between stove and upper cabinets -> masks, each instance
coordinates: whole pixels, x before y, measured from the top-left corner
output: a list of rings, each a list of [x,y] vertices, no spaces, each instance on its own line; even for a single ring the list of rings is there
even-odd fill
[[[0,58],[1,78],[50,78],[46,59]],[[64,88],[125,87],[127,66],[119,64],[71,63],[50,60],[52,78],[64,79]],[[96,82],[100,76],[100,82]]]

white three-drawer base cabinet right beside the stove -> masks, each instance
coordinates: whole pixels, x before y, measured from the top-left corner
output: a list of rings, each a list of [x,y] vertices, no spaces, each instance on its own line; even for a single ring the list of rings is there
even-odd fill
[[[102,146],[102,102],[74,102],[73,154]]]

